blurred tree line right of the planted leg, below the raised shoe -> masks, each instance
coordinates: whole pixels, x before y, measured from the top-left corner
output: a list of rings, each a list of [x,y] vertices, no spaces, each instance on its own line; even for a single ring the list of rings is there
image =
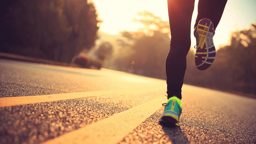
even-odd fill
[[[231,33],[230,44],[217,50],[209,69],[196,70],[193,58],[194,53],[189,53],[186,83],[256,94],[256,23],[251,23],[249,29]]]

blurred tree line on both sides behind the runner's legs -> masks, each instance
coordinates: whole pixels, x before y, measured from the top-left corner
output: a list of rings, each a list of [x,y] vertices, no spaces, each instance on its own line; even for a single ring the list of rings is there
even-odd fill
[[[138,31],[123,31],[127,41],[118,39],[120,49],[109,68],[166,79],[165,59],[170,48],[169,22],[143,11],[134,19],[144,25]],[[231,34],[230,45],[217,50],[213,65],[200,71],[195,66],[195,50],[187,55],[184,83],[211,89],[256,94],[256,23]],[[110,67],[111,66],[111,67]]]

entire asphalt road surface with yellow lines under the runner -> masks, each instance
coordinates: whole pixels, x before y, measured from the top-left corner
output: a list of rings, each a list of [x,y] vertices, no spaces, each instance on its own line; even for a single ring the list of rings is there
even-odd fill
[[[184,85],[180,127],[159,125],[166,82],[0,59],[0,143],[256,143],[256,100]]]

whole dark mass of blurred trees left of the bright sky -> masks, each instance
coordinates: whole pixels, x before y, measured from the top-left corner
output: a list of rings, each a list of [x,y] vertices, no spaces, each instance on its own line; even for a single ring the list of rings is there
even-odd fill
[[[95,45],[97,13],[87,0],[2,0],[0,52],[71,62]]]

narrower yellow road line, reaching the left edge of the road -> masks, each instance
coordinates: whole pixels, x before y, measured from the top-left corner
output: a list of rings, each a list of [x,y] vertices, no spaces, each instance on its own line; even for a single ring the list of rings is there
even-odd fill
[[[102,90],[102,91],[87,91],[78,93],[64,93],[64,94],[49,94],[49,95],[34,95],[34,96],[21,96],[21,97],[5,97],[0,98],[0,107],[26,105],[32,103],[52,102],[61,101],[67,99],[83,98],[90,96],[99,96],[105,94],[123,93],[131,91],[156,91],[165,90],[165,87],[141,87],[136,89],[117,89],[117,90]]]

